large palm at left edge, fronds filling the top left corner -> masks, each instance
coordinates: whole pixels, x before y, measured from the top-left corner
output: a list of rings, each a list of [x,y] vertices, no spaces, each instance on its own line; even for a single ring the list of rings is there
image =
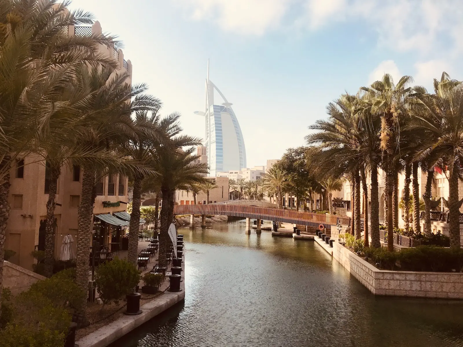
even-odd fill
[[[56,96],[66,89],[79,63],[114,65],[112,58],[97,53],[100,44],[113,45],[110,37],[68,36],[63,28],[93,23],[90,13],[69,12],[68,5],[56,0],[0,3],[0,26],[4,29],[0,33],[0,130],[3,134],[0,140],[0,289],[9,217],[10,167],[18,155],[43,151],[43,135],[49,134],[48,130],[56,126],[66,129],[63,122],[56,124],[59,118],[54,116],[63,114],[69,102],[57,103]],[[53,193],[49,198],[47,215],[51,223]],[[51,224],[47,228],[49,233],[50,228]],[[50,240],[48,243],[50,245]]]

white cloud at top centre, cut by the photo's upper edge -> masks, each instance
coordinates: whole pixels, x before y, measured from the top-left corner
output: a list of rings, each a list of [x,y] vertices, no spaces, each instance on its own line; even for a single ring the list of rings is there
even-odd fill
[[[277,27],[290,0],[177,0],[195,20],[215,22],[225,31],[262,35]]]

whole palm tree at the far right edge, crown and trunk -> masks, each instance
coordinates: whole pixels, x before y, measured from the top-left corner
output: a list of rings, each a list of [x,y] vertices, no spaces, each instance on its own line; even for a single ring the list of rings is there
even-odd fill
[[[460,248],[459,208],[463,200],[458,200],[458,179],[463,166],[463,85],[444,72],[440,81],[434,80],[434,94],[419,99],[427,115],[414,117],[412,127],[431,134],[432,145],[423,143],[416,156],[440,157],[442,167],[448,168],[449,198],[444,203],[449,207],[450,247]]]

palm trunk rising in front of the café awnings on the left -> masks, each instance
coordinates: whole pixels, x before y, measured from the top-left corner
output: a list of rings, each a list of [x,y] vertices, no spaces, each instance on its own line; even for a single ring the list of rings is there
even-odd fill
[[[140,228],[140,205],[142,198],[143,176],[135,176],[133,180],[132,213],[129,224],[129,250],[127,260],[134,266],[137,265],[138,255],[138,229]]]

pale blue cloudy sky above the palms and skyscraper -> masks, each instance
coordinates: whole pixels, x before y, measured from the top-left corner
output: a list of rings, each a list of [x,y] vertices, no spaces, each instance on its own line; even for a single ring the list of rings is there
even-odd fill
[[[247,166],[305,145],[340,94],[384,73],[432,91],[443,71],[463,79],[462,0],[73,0],[118,36],[132,83],[146,83],[204,137],[210,80],[233,103]],[[216,94],[216,99],[219,96]],[[217,103],[217,101],[216,101]]]

